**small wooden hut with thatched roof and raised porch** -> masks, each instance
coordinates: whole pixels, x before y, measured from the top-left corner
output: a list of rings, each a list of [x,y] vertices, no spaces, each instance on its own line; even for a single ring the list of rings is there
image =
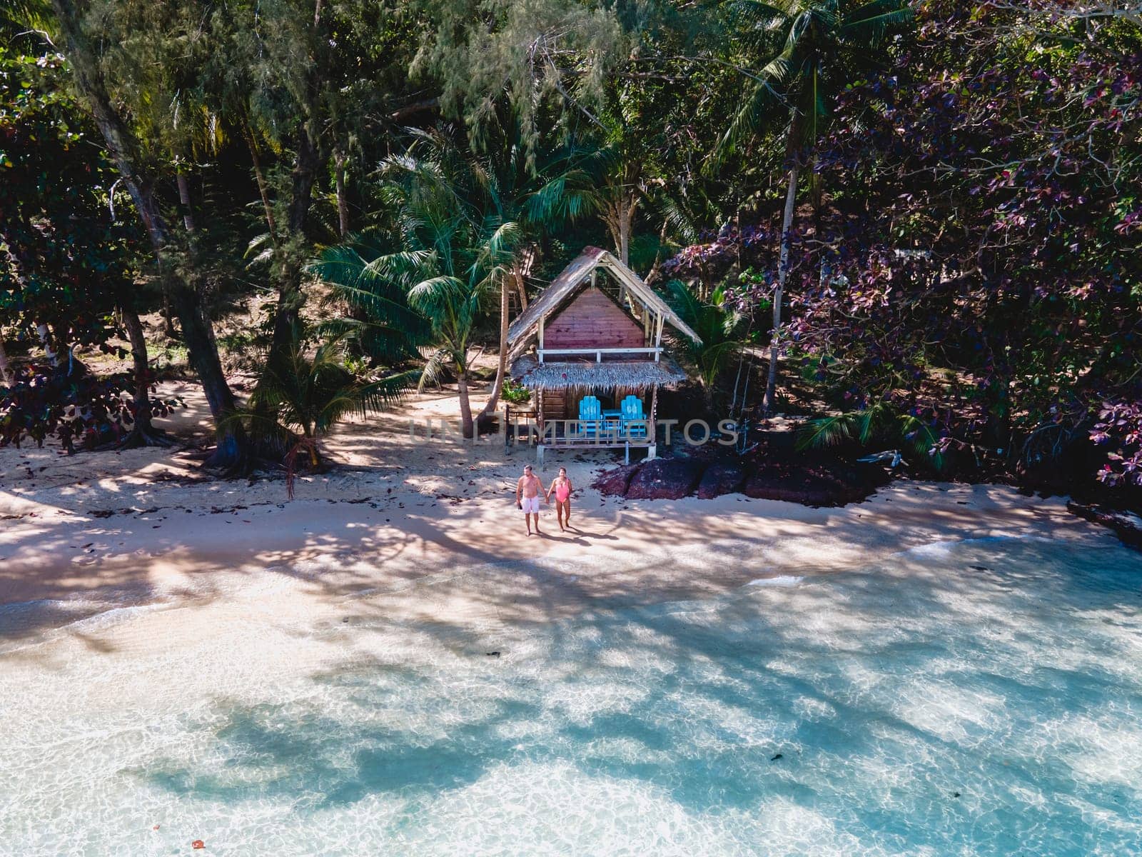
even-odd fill
[[[540,460],[545,449],[568,447],[625,447],[628,457],[630,447],[645,447],[654,457],[658,390],[686,379],[662,345],[666,325],[701,342],[634,271],[597,247],[585,248],[529,304],[508,329],[508,347],[512,378],[536,400]],[[612,431],[632,394],[649,426],[634,438]],[[580,424],[588,395],[603,403],[609,431]]]

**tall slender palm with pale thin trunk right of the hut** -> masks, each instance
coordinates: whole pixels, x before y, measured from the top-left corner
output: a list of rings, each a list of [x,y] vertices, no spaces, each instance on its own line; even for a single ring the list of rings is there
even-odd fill
[[[724,157],[772,123],[788,117],[786,161],[789,165],[778,285],[773,293],[773,333],[764,410],[773,408],[781,333],[781,302],[789,267],[789,240],[797,179],[804,157],[828,122],[834,95],[855,77],[877,67],[877,46],[890,29],[910,19],[908,0],[785,0],[778,3],[734,0],[731,15],[747,41],[767,49],[781,47],[755,75],[754,86],[718,146]]]

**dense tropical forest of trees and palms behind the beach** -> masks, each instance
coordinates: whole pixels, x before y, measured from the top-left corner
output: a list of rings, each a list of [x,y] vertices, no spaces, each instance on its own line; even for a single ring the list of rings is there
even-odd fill
[[[702,331],[707,408],[1142,484],[1140,61],[1127,2],[9,5],[0,443],[169,442],[171,345],[225,473],[416,385],[472,435],[600,245]]]

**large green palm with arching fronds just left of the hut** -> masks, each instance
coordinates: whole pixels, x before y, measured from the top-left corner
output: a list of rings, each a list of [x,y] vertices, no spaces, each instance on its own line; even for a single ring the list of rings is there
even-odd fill
[[[468,351],[485,298],[499,295],[500,346],[481,417],[496,410],[502,389],[510,290],[525,302],[524,277],[540,237],[590,210],[587,155],[565,150],[534,161],[510,130],[485,133],[478,154],[463,151],[441,131],[415,136],[405,154],[380,168],[381,195],[396,213],[395,234],[387,243],[359,239],[330,248],[309,270],[365,310],[373,323],[383,322],[370,335],[393,341],[391,334],[416,331],[415,345],[434,343],[421,386],[444,368],[455,373],[464,435],[471,438]],[[402,296],[426,330],[407,315],[392,315]]]

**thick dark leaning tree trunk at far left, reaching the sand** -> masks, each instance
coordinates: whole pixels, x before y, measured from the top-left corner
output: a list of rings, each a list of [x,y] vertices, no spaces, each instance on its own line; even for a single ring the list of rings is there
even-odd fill
[[[91,118],[99,128],[123,184],[135,201],[139,219],[159,261],[164,287],[170,290],[175,312],[182,323],[183,342],[190,352],[191,365],[202,382],[207,402],[210,405],[218,446],[208,463],[222,466],[228,472],[244,471],[249,449],[241,424],[232,418],[236,409],[234,394],[223,374],[210,320],[202,310],[201,297],[176,274],[167,258],[167,226],[153,194],[154,177],[137,166],[138,142],[112,106],[111,96],[99,73],[98,62],[86,43],[74,0],[53,0],[51,5],[65,40],[75,87],[87,101]]]

